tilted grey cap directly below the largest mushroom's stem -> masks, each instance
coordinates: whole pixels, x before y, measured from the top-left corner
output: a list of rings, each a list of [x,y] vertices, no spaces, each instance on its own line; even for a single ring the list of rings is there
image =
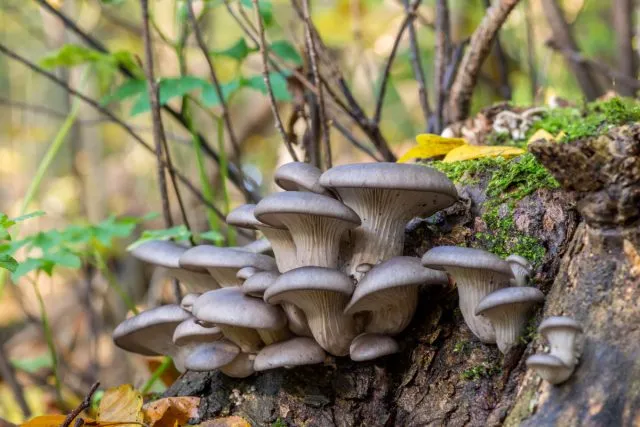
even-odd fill
[[[359,301],[385,289],[426,284],[446,285],[448,283],[449,278],[446,273],[423,267],[420,258],[394,257],[374,266],[360,280],[344,312],[347,314],[356,313],[357,311],[353,309],[357,310]]]

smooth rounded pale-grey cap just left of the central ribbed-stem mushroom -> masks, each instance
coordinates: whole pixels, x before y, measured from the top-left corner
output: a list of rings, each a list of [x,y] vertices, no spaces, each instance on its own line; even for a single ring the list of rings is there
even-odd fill
[[[193,315],[214,324],[252,329],[280,329],[287,318],[279,307],[242,293],[239,287],[205,292],[193,304]]]

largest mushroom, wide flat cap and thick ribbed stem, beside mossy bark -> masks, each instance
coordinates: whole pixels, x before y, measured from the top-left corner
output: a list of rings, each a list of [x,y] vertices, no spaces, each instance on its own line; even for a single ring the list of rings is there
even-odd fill
[[[336,191],[362,219],[353,232],[354,247],[345,271],[355,277],[363,263],[377,264],[402,255],[404,229],[415,216],[431,216],[458,199],[443,173],[420,165],[364,163],[336,166],[320,184]]]

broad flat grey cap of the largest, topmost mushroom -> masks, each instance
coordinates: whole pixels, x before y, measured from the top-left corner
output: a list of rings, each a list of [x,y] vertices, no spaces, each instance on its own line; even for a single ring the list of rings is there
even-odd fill
[[[380,188],[388,190],[429,191],[458,199],[456,187],[445,174],[433,168],[406,163],[355,163],[335,166],[320,177],[320,185],[332,188]]]

